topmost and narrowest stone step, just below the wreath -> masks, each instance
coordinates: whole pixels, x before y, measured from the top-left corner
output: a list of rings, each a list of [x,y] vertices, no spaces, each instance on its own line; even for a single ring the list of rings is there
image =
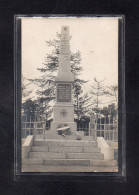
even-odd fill
[[[34,146],[97,146],[96,141],[78,141],[78,140],[45,140],[45,141],[34,141]]]

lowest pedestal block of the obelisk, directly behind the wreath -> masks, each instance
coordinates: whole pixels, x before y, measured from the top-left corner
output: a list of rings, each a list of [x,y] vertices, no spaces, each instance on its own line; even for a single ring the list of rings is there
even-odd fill
[[[77,130],[77,123],[75,122],[63,122],[70,127],[71,134],[75,134]],[[57,127],[60,123],[59,122],[51,122],[51,131],[57,131]]]

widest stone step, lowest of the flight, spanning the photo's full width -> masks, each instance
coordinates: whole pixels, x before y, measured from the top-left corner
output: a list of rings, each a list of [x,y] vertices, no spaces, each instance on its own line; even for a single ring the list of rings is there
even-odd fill
[[[90,159],[42,159],[42,158],[25,158],[22,159],[23,165],[79,165],[79,166],[100,166],[116,167],[116,160],[90,160]]]

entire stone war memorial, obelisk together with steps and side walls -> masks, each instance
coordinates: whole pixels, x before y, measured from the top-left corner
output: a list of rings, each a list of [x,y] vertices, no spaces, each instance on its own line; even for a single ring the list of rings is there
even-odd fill
[[[45,138],[29,135],[22,145],[23,172],[115,172],[114,149],[103,137],[77,131],[72,102],[74,76],[70,65],[69,27],[61,28],[56,102]],[[77,133],[78,132],[78,133]]]

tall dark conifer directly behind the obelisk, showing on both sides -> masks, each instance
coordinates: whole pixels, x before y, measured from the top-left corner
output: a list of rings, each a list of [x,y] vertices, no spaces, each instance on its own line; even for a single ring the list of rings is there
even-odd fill
[[[42,73],[40,78],[29,79],[30,82],[36,84],[39,87],[36,94],[38,95],[38,103],[40,105],[40,109],[42,112],[46,114],[52,113],[52,105],[55,99],[55,76],[58,70],[58,55],[60,49],[60,34],[57,33],[56,39],[46,41],[46,44],[49,48],[51,48],[51,53],[46,54],[45,63],[43,63],[42,68],[38,68],[38,70]],[[77,100],[77,97],[83,92],[81,86],[84,81],[79,79],[79,75],[82,71],[82,67],[80,66],[81,62],[81,53],[77,51],[76,53],[71,52],[71,71],[75,77],[74,81],[74,100]],[[80,87],[80,90],[76,90],[77,86]],[[79,100],[78,100],[79,101]]]

